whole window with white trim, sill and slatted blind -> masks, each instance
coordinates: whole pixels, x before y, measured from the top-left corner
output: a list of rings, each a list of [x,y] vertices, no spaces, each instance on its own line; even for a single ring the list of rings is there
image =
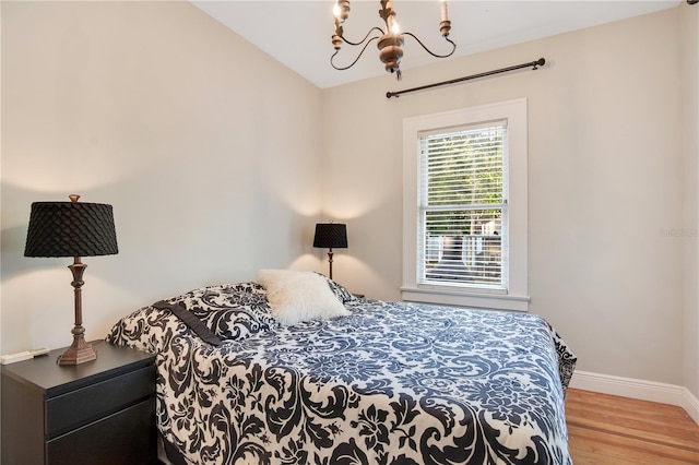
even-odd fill
[[[526,310],[526,100],[404,121],[403,299]]]

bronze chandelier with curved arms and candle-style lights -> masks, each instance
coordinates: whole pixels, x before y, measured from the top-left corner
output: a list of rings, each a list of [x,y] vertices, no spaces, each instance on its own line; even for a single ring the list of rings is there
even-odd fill
[[[377,47],[379,48],[379,59],[386,65],[386,71],[390,73],[395,73],[395,78],[401,80],[401,58],[403,57],[403,44],[404,36],[411,36],[417,41],[420,47],[423,47],[429,55],[436,58],[447,58],[451,57],[451,55],[457,49],[457,44],[454,44],[449,38],[449,31],[451,31],[451,21],[447,15],[447,1],[441,0],[441,21],[439,22],[439,33],[442,35],[445,40],[451,44],[451,51],[447,55],[438,55],[428,49],[425,44],[423,44],[414,34],[411,33],[401,33],[398,22],[395,21],[395,10],[393,10],[393,1],[392,0],[381,0],[381,9],[379,10],[379,16],[386,23],[386,31],[380,27],[371,27],[369,32],[364,36],[360,41],[354,43],[347,40],[344,36],[344,23],[350,16],[350,0],[337,0],[333,10],[333,14],[335,16],[335,33],[332,35],[332,45],[335,48],[335,52],[330,57],[330,64],[336,70],[348,70],[352,68],[358,60],[362,58],[362,55],[367,49],[367,46],[374,40],[377,41]],[[376,33],[377,35],[369,38],[369,36]],[[362,51],[357,55],[357,58],[354,59],[352,63],[346,67],[339,67],[335,64],[334,59],[340,52],[342,48],[342,43],[348,44],[351,46],[359,47],[362,46]]]

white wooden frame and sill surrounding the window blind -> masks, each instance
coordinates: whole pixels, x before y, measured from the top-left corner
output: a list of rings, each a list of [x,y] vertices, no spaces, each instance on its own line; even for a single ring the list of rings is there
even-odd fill
[[[526,99],[518,98],[403,120],[403,284],[402,298],[462,307],[528,311],[528,121]],[[418,284],[419,138],[420,133],[507,120],[507,179],[509,253],[507,288]],[[507,223],[507,224],[505,224]]]

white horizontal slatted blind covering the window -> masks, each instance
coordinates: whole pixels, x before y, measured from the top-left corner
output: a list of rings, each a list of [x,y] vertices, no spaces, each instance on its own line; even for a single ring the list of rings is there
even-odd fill
[[[507,289],[507,120],[419,133],[418,284]]]

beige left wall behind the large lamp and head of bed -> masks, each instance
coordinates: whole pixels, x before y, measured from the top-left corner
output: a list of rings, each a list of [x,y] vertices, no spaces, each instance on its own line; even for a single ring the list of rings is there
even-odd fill
[[[114,205],[84,324],[260,267],[320,267],[321,92],[188,2],[2,2],[2,354],[70,344],[71,259],[29,205]]]

